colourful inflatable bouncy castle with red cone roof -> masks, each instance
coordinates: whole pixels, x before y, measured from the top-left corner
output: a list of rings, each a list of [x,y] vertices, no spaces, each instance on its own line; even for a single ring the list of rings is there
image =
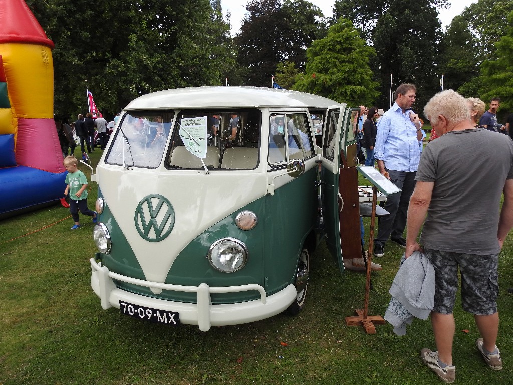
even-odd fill
[[[0,218],[64,196],[53,47],[24,0],[0,0]]]

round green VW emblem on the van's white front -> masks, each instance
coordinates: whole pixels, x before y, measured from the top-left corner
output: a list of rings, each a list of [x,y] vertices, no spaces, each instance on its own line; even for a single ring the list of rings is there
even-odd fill
[[[171,202],[160,194],[144,197],[135,209],[137,232],[149,242],[160,242],[171,234],[174,218]]]

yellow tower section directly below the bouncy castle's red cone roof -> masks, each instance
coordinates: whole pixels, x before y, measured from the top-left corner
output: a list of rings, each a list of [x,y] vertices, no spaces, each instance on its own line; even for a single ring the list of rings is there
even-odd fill
[[[11,106],[18,118],[53,118],[53,61],[49,47],[0,44]]]

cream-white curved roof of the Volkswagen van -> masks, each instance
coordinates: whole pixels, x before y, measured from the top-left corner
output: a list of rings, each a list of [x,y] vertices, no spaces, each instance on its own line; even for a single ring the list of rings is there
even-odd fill
[[[157,91],[131,101],[126,110],[166,108],[329,107],[340,103],[311,93],[265,87],[214,86]]]

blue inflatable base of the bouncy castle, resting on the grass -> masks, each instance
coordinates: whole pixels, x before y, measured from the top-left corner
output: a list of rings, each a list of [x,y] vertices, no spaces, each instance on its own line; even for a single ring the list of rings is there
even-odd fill
[[[35,168],[0,168],[0,215],[64,197],[66,172],[53,174]],[[7,215],[9,216],[9,215]]]

